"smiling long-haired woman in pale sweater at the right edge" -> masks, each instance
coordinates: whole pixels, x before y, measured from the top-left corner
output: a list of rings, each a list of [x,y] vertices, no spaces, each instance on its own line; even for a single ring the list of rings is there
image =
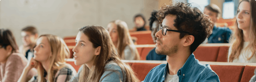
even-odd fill
[[[228,62],[256,63],[256,1],[242,0],[237,9],[235,33]]]

